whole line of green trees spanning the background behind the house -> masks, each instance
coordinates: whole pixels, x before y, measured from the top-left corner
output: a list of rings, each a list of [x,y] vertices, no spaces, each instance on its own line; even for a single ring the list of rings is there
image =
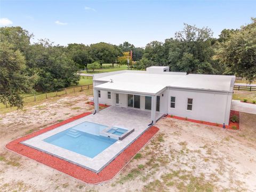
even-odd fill
[[[0,100],[22,108],[21,93],[55,91],[78,84],[78,70],[99,68],[102,63],[133,68],[169,66],[171,71],[196,74],[238,75],[256,78],[256,19],[240,29],[223,29],[213,38],[210,28],[184,24],[173,38],[153,41],[145,48],[129,42],[120,45],[54,45],[49,39],[31,43],[33,34],[21,27],[0,28]],[[132,51],[132,55],[130,55]]]

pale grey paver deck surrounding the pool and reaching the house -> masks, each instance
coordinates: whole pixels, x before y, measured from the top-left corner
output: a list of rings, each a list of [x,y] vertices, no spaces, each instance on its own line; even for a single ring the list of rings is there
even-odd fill
[[[157,118],[163,114],[157,113]],[[54,134],[69,129],[84,121],[98,123],[106,126],[125,127],[127,129],[134,129],[134,132],[128,135],[124,140],[116,141],[113,145],[103,150],[94,158],[89,158],[73,151],[51,145],[44,142],[43,139],[51,137]],[[141,111],[130,108],[122,108],[111,106],[101,110],[95,115],[88,115],[79,118],[73,122],[61,125],[56,129],[39,134],[36,137],[22,141],[23,145],[41,150],[44,153],[64,159],[70,163],[82,166],[88,170],[99,173],[105,166],[107,166],[113,159],[115,159],[122,151],[127,148],[134,140],[148,129],[150,124],[150,111]]]

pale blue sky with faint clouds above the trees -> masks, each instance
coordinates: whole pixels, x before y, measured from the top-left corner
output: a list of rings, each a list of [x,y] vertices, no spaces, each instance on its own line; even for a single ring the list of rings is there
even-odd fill
[[[2,1],[0,25],[21,26],[55,44],[119,45],[125,41],[145,47],[174,37],[183,23],[209,27],[213,37],[236,29],[256,17],[256,1]]]

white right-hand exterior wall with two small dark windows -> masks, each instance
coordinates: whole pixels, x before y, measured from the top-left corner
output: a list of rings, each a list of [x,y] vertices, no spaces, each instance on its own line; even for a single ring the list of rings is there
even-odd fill
[[[168,114],[228,125],[231,93],[199,92],[172,88],[169,91]],[[175,97],[175,109],[171,108],[171,96]],[[191,111],[187,110],[188,98],[193,99]]]

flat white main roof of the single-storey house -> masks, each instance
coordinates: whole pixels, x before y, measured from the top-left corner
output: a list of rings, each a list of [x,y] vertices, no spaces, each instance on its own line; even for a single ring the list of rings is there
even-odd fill
[[[95,87],[104,90],[124,92],[138,92],[156,94],[165,87],[177,87],[183,89],[199,89],[209,91],[229,92],[231,81],[235,76],[227,75],[175,75],[170,73],[150,74],[146,71],[118,71],[116,74],[103,74],[94,81],[110,82]],[[95,76],[97,77],[97,76]]]

